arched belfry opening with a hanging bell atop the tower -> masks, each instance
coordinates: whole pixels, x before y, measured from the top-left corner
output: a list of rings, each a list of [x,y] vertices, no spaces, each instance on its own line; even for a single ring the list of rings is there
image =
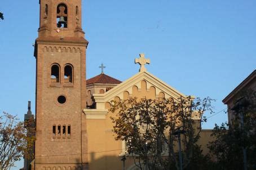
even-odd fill
[[[68,28],[68,8],[64,3],[57,7],[57,27]]]

